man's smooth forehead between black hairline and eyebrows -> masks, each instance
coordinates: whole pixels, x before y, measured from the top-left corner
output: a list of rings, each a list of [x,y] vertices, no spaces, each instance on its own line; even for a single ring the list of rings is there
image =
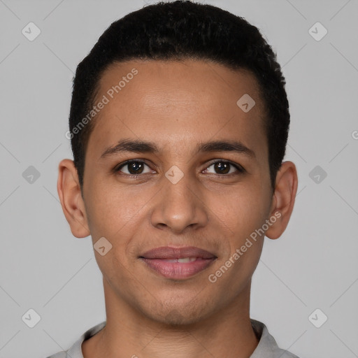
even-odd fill
[[[264,107],[248,71],[189,59],[136,60],[109,66],[98,88],[94,105],[106,104],[94,117],[88,150],[106,150],[120,138],[157,142],[173,151],[224,138],[261,154],[266,150]],[[255,105],[245,111],[246,103]]]

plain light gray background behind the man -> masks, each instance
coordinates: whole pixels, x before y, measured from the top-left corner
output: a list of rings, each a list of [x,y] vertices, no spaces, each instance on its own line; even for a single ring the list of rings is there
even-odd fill
[[[358,357],[357,0],[206,3],[259,27],[287,79],[286,159],[299,189],[285,234],[265,239],[251,317],[302,358]],[[105,320],[90,237],[69,230],[57,165],[71,158],[64,134],[78,62],[111,22],[144,4],[0,0],[1,358],[47,357]],[[29,22],[41,29],[34,41],[22,34]],[[308,31],[316,22],[328,30],[320,41]],[[29,166],[40,174],[32,182]],[[22,321],[30,308],[41,316],[34,328]]]

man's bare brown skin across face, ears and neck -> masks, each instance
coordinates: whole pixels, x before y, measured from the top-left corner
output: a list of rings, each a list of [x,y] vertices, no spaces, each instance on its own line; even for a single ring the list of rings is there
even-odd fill
[[[138,74],[95,117],[85,157],[83,196],[73,161],[59,164],[57,189],[74,236],[105,237],[94,251],[103,273],[107,324],[82,345],[89,357],[250,357],[258,344],[250,324],[250,285],[264,236],[215,283],[208,280],[274,213],[265,235],[280,237],[292,213],[296,168],[283,162],[271,189],[264,106],[255,77],[204,61],[131,61],[101,77],[98,99],[131,69]],[[243,94],[256,105],[238,108]],[[101,154],[123,138],[154,142],[157,153]],[[241,141],[255,152],[196,152],[199,142]],[[128,159],[145,166],[138,179]],[[220,173],[213,159],[241,165]],[[175,185],[165,173],[178,166]],[[196,246],[217,259],[184,280],[164,278],[138,257],[159,246]]]

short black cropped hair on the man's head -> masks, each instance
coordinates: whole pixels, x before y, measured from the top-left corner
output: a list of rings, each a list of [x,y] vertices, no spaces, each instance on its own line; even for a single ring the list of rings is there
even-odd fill
[[[99,80],[108,66],[134,59],[202,59],[229,69],[250,71],[259,83],[264,101],[271,188],[275,188],[289,131],[285,78],[275,52],[259,29],[243,17],[216,6],[179,0],[145,6],[113,22],[78,64],[69,130],[81,190],[85,152],[94,121],[80,130],[73,129],[79,128],[78,124],[92,110]]]

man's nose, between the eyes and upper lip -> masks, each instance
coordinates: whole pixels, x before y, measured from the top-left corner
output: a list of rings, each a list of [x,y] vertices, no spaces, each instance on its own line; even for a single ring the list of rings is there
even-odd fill
[[[194,180],[184,175],[179,182],[173,184],[163,178],[163,185],[152,210],[154,227],[167,227],[173,233],[180,234],[188,227],[196,229],[207,224],[208,208]]]

